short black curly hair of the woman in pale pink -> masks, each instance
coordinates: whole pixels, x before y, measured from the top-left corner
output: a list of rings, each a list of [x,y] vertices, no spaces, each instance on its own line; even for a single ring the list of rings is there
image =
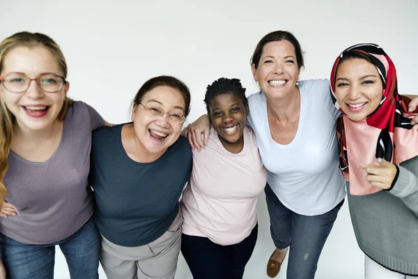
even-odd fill
[[[209,107],[212,100],[222,94],[233,94],[242,100],[242,104],[248,105],[247,97],[245,96],[245,88],[242,87],[241,81],[238,79],[229,79],[226,77],[221,77],[212,84],[209,84],[206,87],[205,94],[205,103],[206,110],[210,115]]]

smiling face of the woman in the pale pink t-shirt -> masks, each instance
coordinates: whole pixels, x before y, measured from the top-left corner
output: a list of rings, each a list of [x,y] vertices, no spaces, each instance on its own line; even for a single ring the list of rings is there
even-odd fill
[[[231,144],[242,144],[247,124],[248,106],[233,93],[216,96],[210,102],[210,120],[226,149]]]

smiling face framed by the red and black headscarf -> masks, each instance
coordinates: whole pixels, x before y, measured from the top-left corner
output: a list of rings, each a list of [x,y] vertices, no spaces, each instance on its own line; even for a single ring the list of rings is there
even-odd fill
[[[349,119],[364,120],[378,108],[383,96],[383,84],[376,66],[359,58],[339,63],[335,96]]]

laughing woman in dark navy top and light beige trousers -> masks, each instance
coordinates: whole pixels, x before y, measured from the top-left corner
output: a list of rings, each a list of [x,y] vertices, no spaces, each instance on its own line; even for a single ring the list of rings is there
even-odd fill
[[[183,82],[154,77],[135,96],[131,123],[93,133],[89,181],[109,279],[174,278],[178,199],[192,170],[192,150],[180,137],[189,105]]]

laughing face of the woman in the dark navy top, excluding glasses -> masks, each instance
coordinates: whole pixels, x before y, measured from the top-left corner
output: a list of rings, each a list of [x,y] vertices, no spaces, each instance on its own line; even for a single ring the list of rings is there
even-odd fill
[[[141,104],[134,105],[131,117],[135,140],[144,151],[159,157],[178,140],[183,123],[171,123],[167,114],[150,116],[149,110],[157,108],[169,114],[184,115],[185,99],[177,89],[156,86],[145,93]]]

